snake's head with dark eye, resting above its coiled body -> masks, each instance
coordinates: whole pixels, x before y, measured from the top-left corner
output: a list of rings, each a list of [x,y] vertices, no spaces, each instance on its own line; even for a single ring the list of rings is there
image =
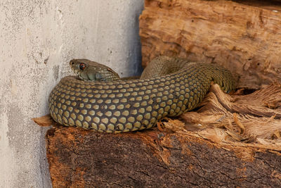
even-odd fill
[[[113,81],[119,80],[119,75],[106,65],[85,58],[72,59],[70,68],[81,80]]]

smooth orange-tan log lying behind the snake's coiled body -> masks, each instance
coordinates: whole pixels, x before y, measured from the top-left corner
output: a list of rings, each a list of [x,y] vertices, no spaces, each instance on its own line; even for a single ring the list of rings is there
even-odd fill
[[[238,87],[281,80],[281,4],[273,1],[145,0],[143,65],[159,55],[218,63]]]

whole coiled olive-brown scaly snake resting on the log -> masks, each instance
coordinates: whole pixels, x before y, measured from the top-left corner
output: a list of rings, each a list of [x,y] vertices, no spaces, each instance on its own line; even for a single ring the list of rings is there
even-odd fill
[[[75,76],[63,77],[48,98],[55,122],[97,132],[133,132],[154,127],[162,118],[195,109],[212,83],[235,89],[229,70],[214,63],[158,56],[139,79],[120,79],[106,65],[70,61]]]

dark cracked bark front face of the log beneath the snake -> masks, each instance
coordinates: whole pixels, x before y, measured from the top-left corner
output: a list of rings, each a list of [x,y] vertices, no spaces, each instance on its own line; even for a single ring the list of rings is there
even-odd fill
[[[53,187],[280,187],[280,149],[217,144],[188,132],[46,135]]]

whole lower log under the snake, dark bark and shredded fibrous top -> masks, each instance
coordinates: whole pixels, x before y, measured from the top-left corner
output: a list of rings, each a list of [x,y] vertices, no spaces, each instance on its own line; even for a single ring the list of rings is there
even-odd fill
[[[280,93],[272,84],[229,96],[214,84],[181,120],[125,134],[34,121],[54,125],[46,134],[53,187],[280,187]]]

